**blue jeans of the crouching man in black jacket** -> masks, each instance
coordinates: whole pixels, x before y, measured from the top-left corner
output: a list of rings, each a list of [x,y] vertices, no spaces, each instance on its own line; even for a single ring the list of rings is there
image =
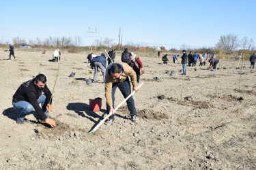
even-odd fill
[[[46,114],[46,116],[48,116],[48,111],[46,109],[46,105],[48,103],[45,101],[46,101],[46,96],[42,94],[38,98],[38,103],[39,104],[42,103],[42,110],[43,110],[44,114]],[[24,119],[25,116],[27,115],[27,113],[31,112],[33,109],[33,105],[31,105],[27,101],[18,101],[17,103],[12,102],[12,105],[14,106],[14,109],[20,111],[20,113],[18,114],[18,117],[21,119]]]

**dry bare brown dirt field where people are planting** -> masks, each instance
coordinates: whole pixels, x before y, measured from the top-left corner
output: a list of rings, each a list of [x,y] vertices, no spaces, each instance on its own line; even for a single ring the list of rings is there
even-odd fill
[[[124,105],[113,125],[88,135],[106,116],[106,101],[104,84],[85,83],[94,73],[83,66],[87,54],[63,52],[50,113],[55,128],[38,122],[34,111],[24,125],[16,124],[12,95],[20,84],[41,72],[53,89],[58,64],[48,61],[52,53],[16,50],[14,62],[0,51],[0,169],[256,169],[256,72],[248,61],[242,72],[238,61],[221,61],[222,69],[208,71],[206,63],[197,71],[188,67],[184,77],[180,63],[141,57],[144,84],[134,94],[139,124],[128,119]],[[102,98],[100,112],[89,109],[96,97]],[[117,90],[116,106],[122,100]]]

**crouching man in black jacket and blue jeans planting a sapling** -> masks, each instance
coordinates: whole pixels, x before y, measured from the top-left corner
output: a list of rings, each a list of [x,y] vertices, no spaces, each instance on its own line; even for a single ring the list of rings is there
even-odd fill
[[[17,123],[24,124],[25,116],[34,108],[41,120],[52,127],[55,126],[55,120],[48,118],[48,112],[53,108],[51,104],[48,104],[50,100],[51,91],[46,86],[45,75],[39,74],[34,79],[21,84],[12,97],[14,109],[20,111]],[[42,103],[42,108],[40,103]]]

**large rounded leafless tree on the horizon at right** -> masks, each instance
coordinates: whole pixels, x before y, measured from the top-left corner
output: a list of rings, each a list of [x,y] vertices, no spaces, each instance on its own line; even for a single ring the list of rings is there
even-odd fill
[[[231,53],[239,47],[238,36],[234,34],[221,35],[216,44],[216,48],[223,50],[226,53]]]

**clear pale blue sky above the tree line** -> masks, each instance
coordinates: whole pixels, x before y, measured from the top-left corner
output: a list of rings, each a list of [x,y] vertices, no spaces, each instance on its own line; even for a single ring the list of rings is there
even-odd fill
[[[253,0],[2,1],[0,42],[79,35],[87,46],[89,27],[97,28],[98,39],[117,43],[121,27],[123,44],[167,49],[212,47],[229,33],[256,42],[255,7]],[[90,36],[94,44],[95,34]]]

